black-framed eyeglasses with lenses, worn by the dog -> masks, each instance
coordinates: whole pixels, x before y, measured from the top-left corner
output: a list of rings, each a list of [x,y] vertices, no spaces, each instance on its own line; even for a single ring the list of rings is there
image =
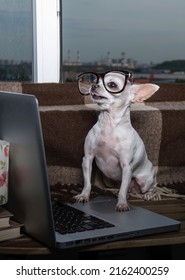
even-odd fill
[[[89,95],[94,85],[99,83],[101,78],[105,89],[117,94],[124,90],[127,80],[132,77],[132,72],[126,70],[112,70],[105,73],[85,72],[78,76],[77,83],[79,92]]]

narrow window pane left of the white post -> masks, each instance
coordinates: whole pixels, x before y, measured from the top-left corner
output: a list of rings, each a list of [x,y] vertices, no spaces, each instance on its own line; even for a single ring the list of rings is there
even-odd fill
[[[0,0],[0,80],[32,80],[32,0]]]

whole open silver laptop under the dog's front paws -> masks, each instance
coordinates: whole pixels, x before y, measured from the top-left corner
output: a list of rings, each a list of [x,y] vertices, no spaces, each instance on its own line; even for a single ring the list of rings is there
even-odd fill
[[[141,207],[131,205],[130,211],[116,212],[117,200],[108,196],[97,196],[85,204],[53,203],[39,106],[33,95],[0,92],[0,139],[10,142],[6,208],[24,224],[28,235],[49,247],[87,246],[180,228],[179,221]],[[67,224],[72,228],[66,230]]]

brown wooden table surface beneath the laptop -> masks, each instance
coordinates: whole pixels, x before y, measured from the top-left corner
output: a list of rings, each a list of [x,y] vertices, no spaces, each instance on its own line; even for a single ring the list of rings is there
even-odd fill
[[[160,213],[167,217],[181,221],[181,229],[168,233],[160,233],[148,235],[145,237],[137,237],[128,240],[115,241],[100,245],[77,248],[78,252],[88,251],[105,251],[124,248],[138,248],[161,245],[177,245],[185,244],[185,200],[183,199],[167,199],[160,201],[140,201],[133,200],[132,204],[141,206],[148,210]],[[74,249],[73,249],[74,250]],[[66,250],[61,250],[61,254]],[[70,252],[70,250],[67,250]],[[16,255],[46,255],[52,254],[53,251],[45,245],[33,240],[27,235],[21,238],[5,241],[0,243],[0,254],[16,254]]]

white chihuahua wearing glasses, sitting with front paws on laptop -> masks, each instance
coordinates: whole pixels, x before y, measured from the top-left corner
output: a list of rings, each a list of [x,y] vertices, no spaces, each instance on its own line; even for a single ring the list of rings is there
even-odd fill
[[[106,177],[121,182],[117,211],[130,209],[127,193],[134,186],[139,186],[145,200],[151,199],[154,169],[143,141],[132,127],[130,106],[148,99],[159,87],[155,84],[132,85],[131,77],[132,73],[118,70],[103,74],[87,72],[78,77],[80,93],[90,94],[101,112],[85,139],[84,187],[81,194],[75,196],[77,202],[89,200],[94,159]]]

